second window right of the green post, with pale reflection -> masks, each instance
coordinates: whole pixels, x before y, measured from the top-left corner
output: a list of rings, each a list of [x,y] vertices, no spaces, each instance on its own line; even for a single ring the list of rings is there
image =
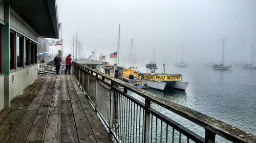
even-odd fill
[[[23,37],[17,35],[16,37],[16,58],[17,58],[17,68],[23,67]]]

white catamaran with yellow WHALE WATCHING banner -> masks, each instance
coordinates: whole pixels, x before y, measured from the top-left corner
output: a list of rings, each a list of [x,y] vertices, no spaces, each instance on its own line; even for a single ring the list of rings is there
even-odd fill
[[[157,66],[155,63],[146,64],[146,68],[150,69],[150,73],[142,74],[141,79],[147,87],[167,90],[175,88],[179,90],[186,90],[188,82],[182,81],[181,74],[156,74]]]

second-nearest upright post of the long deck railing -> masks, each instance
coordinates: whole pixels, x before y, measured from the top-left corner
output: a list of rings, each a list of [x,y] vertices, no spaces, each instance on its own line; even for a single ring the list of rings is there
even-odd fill
[[[144,119],[144,142],[150,142],[150,108],[151,101],[145,99],[145,119]]]

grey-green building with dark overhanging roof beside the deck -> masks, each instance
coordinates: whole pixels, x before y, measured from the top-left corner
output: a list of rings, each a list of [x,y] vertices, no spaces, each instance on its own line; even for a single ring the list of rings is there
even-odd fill
[[[0,0],[0,110],[37,78],[37,38],[58,38],[55,0]]]

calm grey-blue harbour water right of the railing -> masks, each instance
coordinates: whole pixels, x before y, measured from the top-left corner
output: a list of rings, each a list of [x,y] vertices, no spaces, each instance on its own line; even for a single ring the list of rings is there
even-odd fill
[[[242,66],[229,71],[204,66],[170,66],[167,69],[166,73],[181,73],[183,81],[189,82],[186,91],[151,88],[147,88],[147,91],[256,134],[256,70],[243,69]],[[169,111],[161,112],[169,115]],[[203,129],[191,123],[185,124],[204,135]]]

